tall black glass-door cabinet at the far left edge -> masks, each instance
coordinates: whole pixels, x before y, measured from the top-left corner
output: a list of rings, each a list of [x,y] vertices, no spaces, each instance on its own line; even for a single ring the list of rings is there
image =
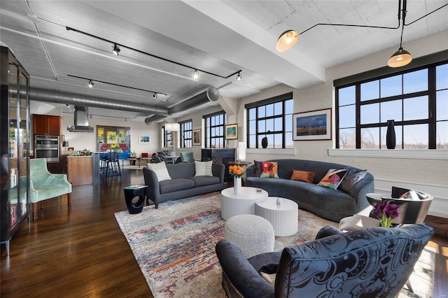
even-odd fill
[[[29,217],[29,75],[0,47],[0,243],[6,245]]]

